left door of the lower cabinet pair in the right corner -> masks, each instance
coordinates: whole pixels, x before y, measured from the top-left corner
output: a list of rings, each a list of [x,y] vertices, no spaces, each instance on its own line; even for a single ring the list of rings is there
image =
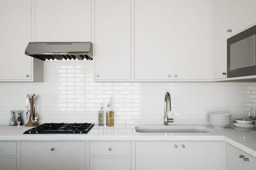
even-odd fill
[[[226,144],[225,147],[225,170],[244,170],[245,163],[243,158],[244,152],[238,150],[230,144]]]

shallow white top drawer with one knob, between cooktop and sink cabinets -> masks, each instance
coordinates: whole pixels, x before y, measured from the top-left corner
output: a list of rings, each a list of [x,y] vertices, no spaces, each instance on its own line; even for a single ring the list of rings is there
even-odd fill
[[[131,155],[131,142],[90,142],[90,155]]]

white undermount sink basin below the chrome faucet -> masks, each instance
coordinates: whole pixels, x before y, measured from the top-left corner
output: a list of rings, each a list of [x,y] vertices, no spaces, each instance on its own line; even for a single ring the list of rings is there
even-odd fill
[[[136,126],[139,133],[209,133],[213,130],[197,125],[170,125],[170,126]]]

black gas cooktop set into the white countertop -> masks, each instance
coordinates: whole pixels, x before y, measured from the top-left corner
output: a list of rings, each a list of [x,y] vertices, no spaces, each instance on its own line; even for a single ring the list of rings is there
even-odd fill
[[[23,134],[87,134],[94,123],[43,123]]]

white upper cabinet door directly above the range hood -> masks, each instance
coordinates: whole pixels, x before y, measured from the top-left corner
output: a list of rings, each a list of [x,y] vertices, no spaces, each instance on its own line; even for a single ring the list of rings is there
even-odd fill
[[[35,41],[91,41],[91,0],[35,0]]]

